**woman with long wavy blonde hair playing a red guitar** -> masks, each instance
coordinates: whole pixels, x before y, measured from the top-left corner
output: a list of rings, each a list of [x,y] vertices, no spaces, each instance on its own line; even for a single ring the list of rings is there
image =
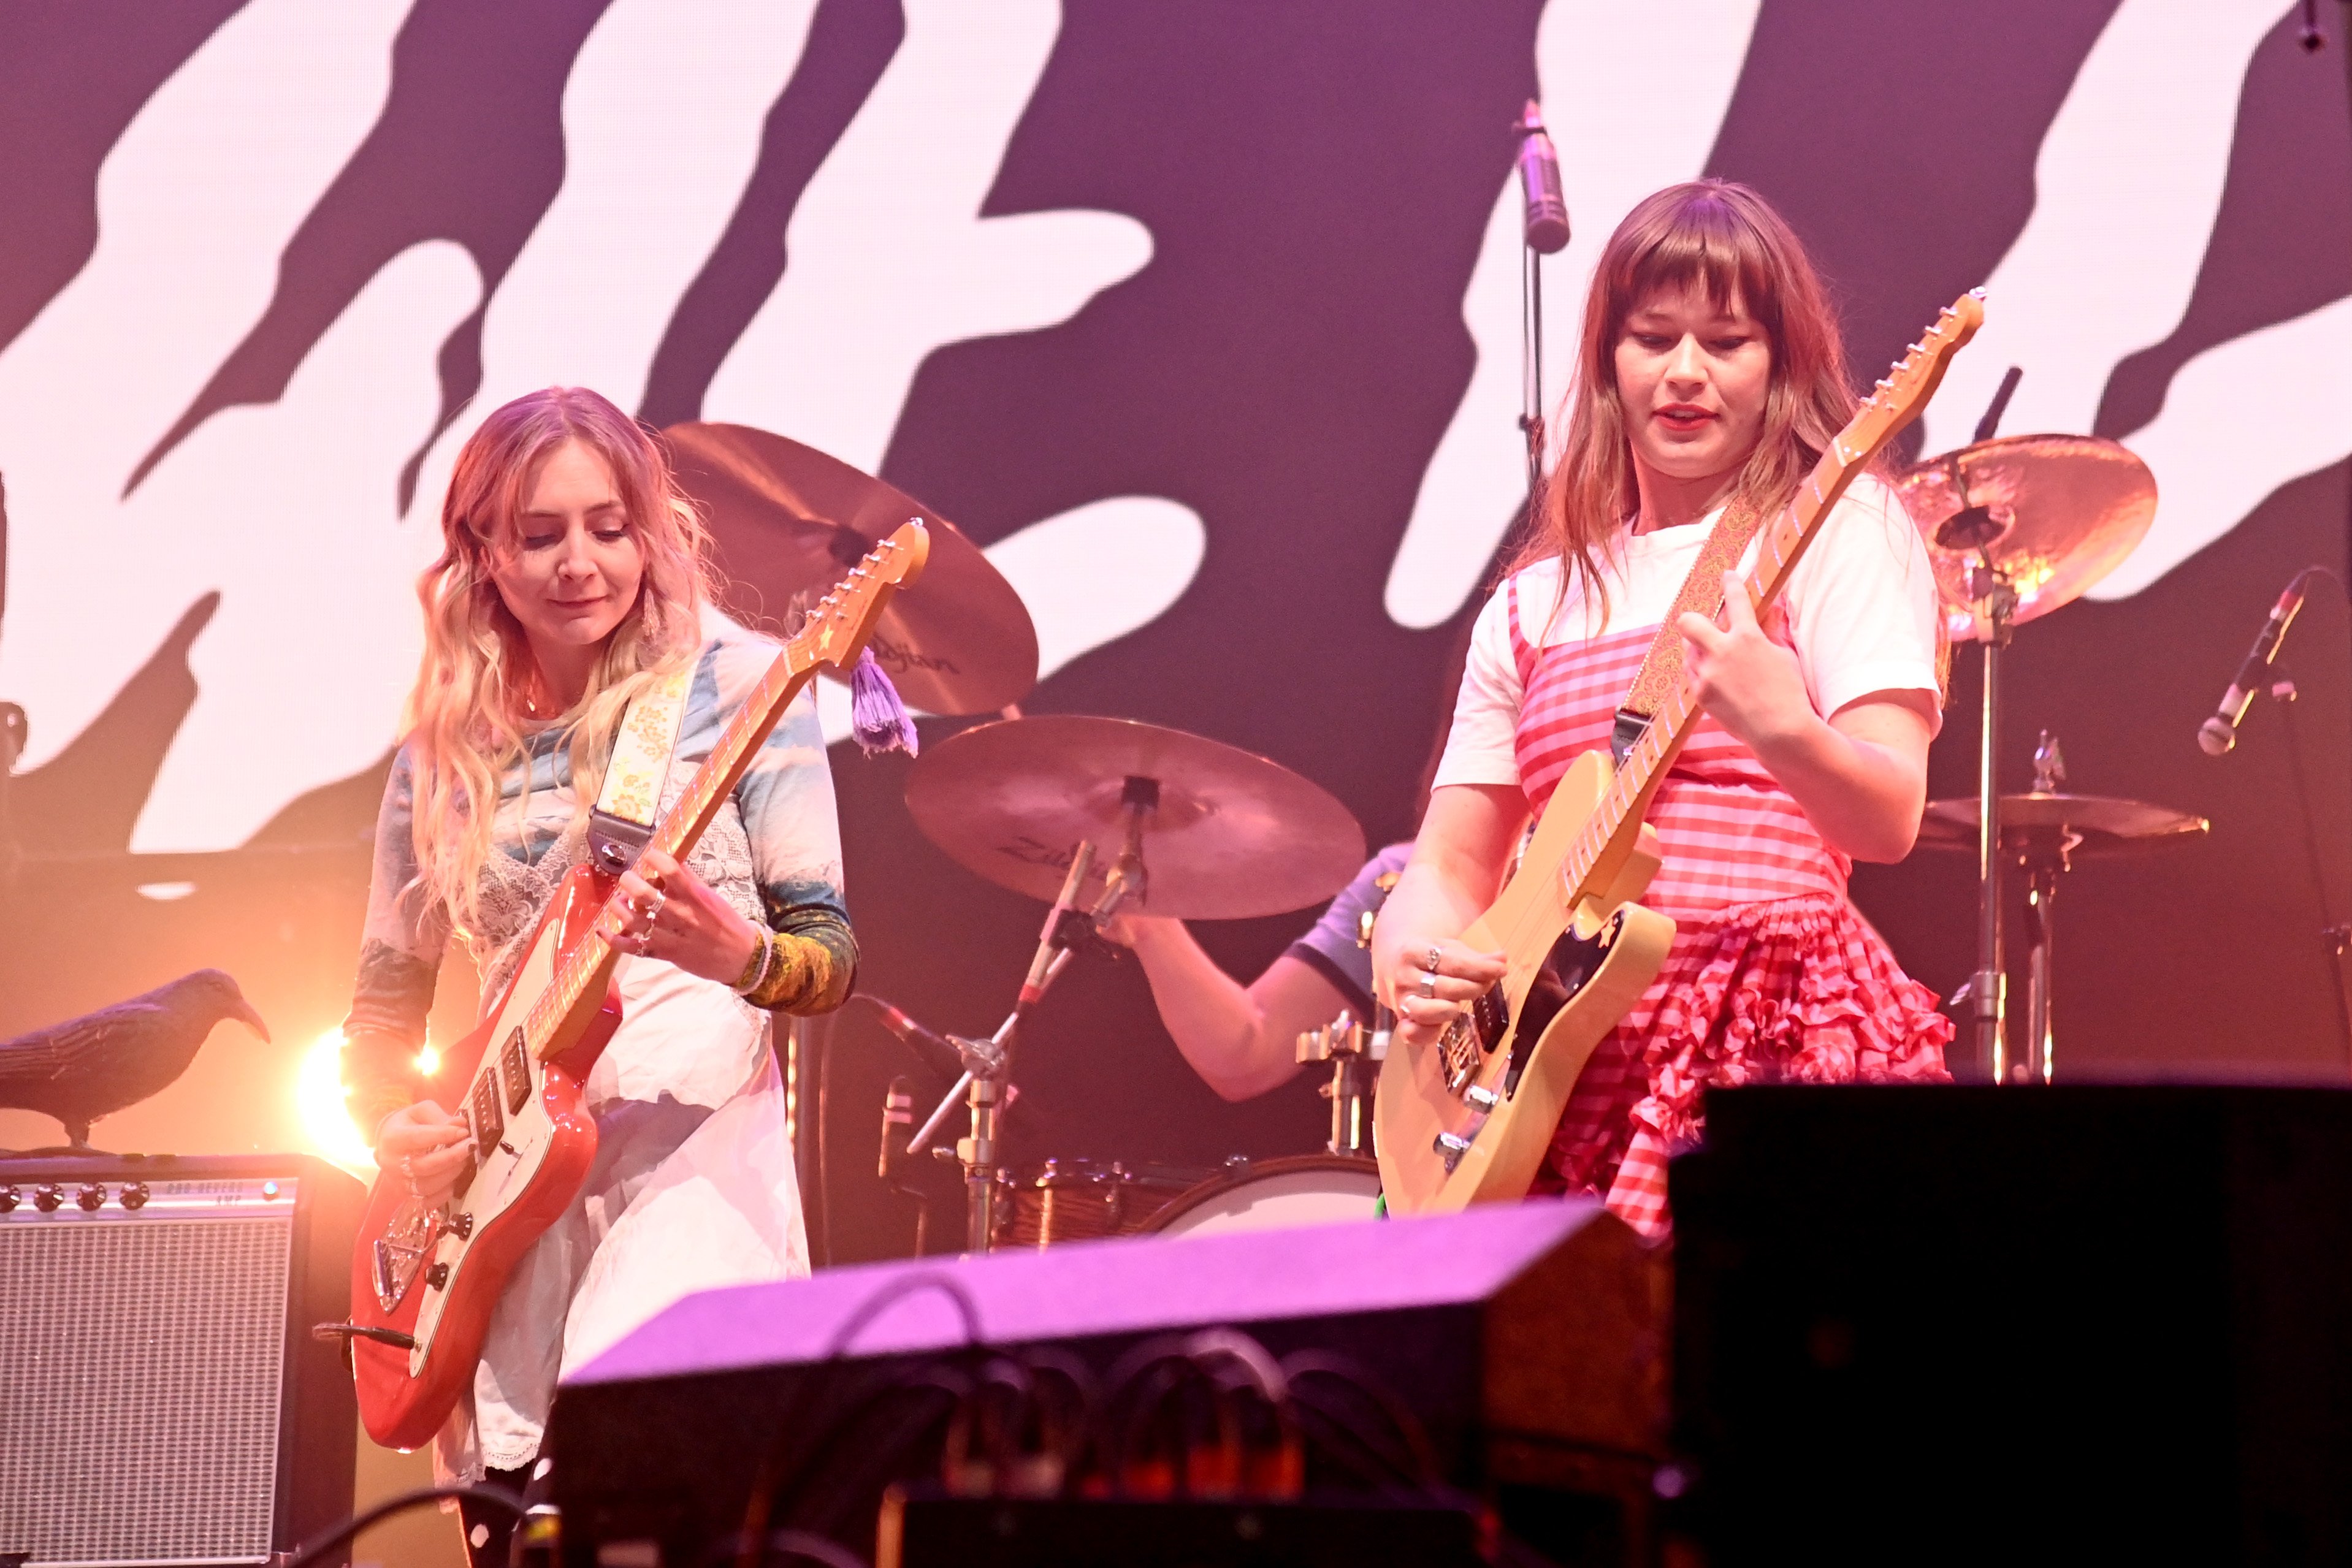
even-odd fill
[[[776,649],[706,614],[701,520],[661,444],[581,388],[517,397],[473,433],[416,595],[426,651],[376,823],[343,1072],[376,1164],[437,1201],[466,1166],[463,1124],[416,1072],[445,945],[501,994],[586,853],[630,698],[691,672],[668,806]],[[623,1020],[583,1084],[597,1161],[499,1300],[437,1443],[461,1479],[520,1490],[557,1375],[670,1300],[809,1269],[769,1011],[835,1009],[856,971],[809,693],[687,863],[647,851],[619,907]],[[501,1535],[485,1519],[470,1547],[503,1561]]]

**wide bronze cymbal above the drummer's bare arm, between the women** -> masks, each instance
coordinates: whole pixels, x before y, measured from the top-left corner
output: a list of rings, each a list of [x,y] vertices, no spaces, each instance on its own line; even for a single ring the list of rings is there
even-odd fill
[[[1160,785],[1145,816],[1138,914],[1249,919],[1319,903],[1364,865],[1348,806],[1279,762],[1136,719],[1030,715],[924,750],[906,806],[964,870],[1054,900],[1080,842],[1096,846],[1082,898],[1127,842],[1131,778]]]

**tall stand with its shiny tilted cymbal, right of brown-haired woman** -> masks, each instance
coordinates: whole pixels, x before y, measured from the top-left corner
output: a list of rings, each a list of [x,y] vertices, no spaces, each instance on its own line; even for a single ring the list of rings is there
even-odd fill
[[[2147,536],[2157,482],[2147,463],[2091,435],[1994,440],[2023,371],[2011,367],[1976,440],[1896,475],[1905,510],[1929,541],[1945,630],[1985,649],[1976,780],[1976,973],[1952,994],[1973,1020],[1976,1067],[1997,1084],[2034,1077],[2006,1041],[2009,978],[2002,971],[1999,792],[2002,654],[2011,632],[2082,597]],[[2053,884],[2049,884],[2053,886]],[[2046,903],[2039,905],[2046,912]],[[2046,999],[2046,987],[2044,987]],[[2046,1025],[2046,1018],[2044,1018]],[[2046,1058],[2046,1037],[2027,1058]],[[2044,1063],[2046,1067],[2046,1063]]]

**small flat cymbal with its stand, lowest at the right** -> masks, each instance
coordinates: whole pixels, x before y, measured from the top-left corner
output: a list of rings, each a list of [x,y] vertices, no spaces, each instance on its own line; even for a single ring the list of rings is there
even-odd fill
[[[1980,844],[1980,813],[1983,806],[1973,799],[1929,802],[1919,823],[1919,846],[1966,849]],[[2025,872],[2025,907],[2032,919],[2032,947],[2025,961],[2025,1048],[2004,1063],[2006,1077],[2002,1081],[2049,1084],[2058,1063],[2051,1027],[2058,879],[2084,856],[2107,858],[2197,839],[2204,837],[2209,823],[2201,816],[2147,802],[2067,795],[2065,755],[2049,731],[2042,731],[2042,743],[2034,748],[2032,792],[2004,795],[1999,823],[2002,858]]]

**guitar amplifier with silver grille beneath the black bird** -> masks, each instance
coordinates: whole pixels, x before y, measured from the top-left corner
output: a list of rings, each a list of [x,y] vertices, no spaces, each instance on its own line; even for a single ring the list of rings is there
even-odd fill
[[[350,1514],[365,1190],[299,1154],[0,1159],[0,1561],[268,1563]],[[336,1559],[343,1561],[343,1559]]]

